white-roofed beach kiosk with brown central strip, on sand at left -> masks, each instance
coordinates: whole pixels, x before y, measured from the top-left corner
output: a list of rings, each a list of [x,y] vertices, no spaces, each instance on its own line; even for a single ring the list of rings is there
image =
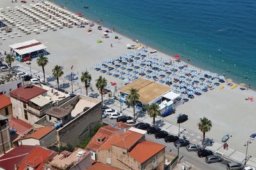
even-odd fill
[[[22,43],[16,43],[14,45],[10,45],[10,52],[15,56],[16,60],[22,62],[25,57],[38,57],[38,55],[47,55],[46,51],[47,46],[36,41],[36,39],[32,39],[29,41],[24,41]]]

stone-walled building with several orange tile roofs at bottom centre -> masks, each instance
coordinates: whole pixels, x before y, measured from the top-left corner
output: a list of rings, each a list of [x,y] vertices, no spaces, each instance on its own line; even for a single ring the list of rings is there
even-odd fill
[[[97,162],[120,169],[164,169],[165,146],[146,141],[145,131],[130,127],[95,136],[97,141],[94,138],[89,145],[96,150]]]

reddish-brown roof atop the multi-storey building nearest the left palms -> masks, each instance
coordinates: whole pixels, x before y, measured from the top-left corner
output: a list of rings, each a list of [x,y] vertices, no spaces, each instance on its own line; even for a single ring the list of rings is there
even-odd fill
[[[47,92],[47,90],[36,85],[24,85],[10,92],[10,96],[20,101],[28,102],[30,99]]]

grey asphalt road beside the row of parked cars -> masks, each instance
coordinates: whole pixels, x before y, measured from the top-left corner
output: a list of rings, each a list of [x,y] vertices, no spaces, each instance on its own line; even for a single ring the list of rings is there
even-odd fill
[[[116,120],[111,120],[109,118],[104,118],[103,122],[106,124],[113,124],[116,122]],[[146,139],[149,141],[154,141],[156,143],[159,143],[161,145],[166,146],[166,150],[172,150],[172,153],[177,154],[177,148],[173,145],[173,143],[165,143],[164,139],[156,139],[154,135],[146,134]],[[190,164],[193,164],[194,167],[197,169],[207,169],[207,170],[224,170],[226,169],[226,165],[228,163],[227,160],[223,160],[223,162],[220,163],[214,163],[214,164],[207,164],[204,160],[204,158],[200,158],[197,156],[196,152],[188,152],[186,148],[181,147],[179,152],[179,157],[183,157],[180,161],[181,162],[189,162]]]

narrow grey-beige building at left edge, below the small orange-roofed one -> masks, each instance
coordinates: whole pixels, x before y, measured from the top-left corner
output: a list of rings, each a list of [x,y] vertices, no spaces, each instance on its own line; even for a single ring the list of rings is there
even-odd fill
[[[8,118],[0,115],[0,154],[7,152],[12,148]]]

